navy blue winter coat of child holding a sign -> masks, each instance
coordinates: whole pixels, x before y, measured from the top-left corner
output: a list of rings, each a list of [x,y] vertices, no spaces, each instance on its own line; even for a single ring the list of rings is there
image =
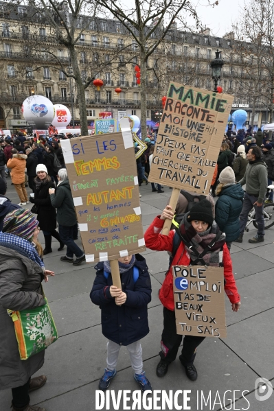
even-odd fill
[[[111,274],[104,277],[104,263],[98,263],[95,269],[95,281],[91,290],[91,301],[100,306],[102,333],[119,345],[128,345],[148,332],[148,303],[151,301],[151,282],[146,260],[135,255],[135,267],[139,270],[136,283],[133,280],[133,268],[121,275],[122,290],[126,293],[126,303],[115,304],[109,287],[113,285]]]

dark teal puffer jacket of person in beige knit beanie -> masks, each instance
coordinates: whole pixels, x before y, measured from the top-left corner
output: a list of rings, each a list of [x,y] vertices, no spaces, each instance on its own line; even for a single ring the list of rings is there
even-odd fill
[[[240,235],[239,216],[242,211],[244,190],[240,184],[222,188],[215,206],[215,221],[220,231],[225,233],[226,241],[232,242]]]

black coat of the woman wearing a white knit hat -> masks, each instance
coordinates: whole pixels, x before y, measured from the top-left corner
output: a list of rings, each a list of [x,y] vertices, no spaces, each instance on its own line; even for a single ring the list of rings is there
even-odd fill
[[[57,209],[57,222],[61,226],[71,227],[77,223],[69,180],[58,183],[56,192],[50,195],[52,206]]]

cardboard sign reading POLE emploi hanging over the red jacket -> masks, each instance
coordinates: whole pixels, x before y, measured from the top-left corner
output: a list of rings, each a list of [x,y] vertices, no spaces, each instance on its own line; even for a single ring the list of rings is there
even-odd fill
[[[177,334],[225,338],[224,269],[173,266],[172,270]]]

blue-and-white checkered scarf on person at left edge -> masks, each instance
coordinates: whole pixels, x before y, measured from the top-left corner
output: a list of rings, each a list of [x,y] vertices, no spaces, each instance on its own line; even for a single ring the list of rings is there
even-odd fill
[[[34,263],[38,264],[38,266],[45,271],[45,264],[39,257],[32,243],[28,242],[26,239],[23,239],[18,235],[2,233],[2,231],[0,231],[0,246],[11,248],[12,250],[18,248],[21,251],[21,254],[34,261]]]

